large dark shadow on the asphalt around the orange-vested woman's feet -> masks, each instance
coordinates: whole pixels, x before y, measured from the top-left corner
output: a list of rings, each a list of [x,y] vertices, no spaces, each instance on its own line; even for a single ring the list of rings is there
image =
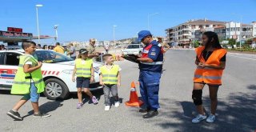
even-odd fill
[[[254,131],[256,130],[256,86],[250,85],[247,88],[250,92],[231,93],[226,99],[218,101],[217,119],[212,124],[204,121],[198,124],[191,123],[192,118],[197,114],[191,100],[191,102],[174,101],[176,105],[182,106],[182,110],[163,110],[162,116],[175,118],[178,122],[156,122],[156,125],[177,131]],[[162,104],[162,108],[173,103],[169,98],[163,100],[165,103]],[[210,98],[205,98],[203,102],[206,113],[209,114]]]

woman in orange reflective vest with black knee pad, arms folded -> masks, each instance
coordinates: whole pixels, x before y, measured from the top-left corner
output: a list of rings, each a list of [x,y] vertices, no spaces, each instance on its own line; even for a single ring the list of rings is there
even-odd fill
[[[206,122],[214,122],[218,87],[222,85],[222,73],[226,66],[226,50],[222,49],[216,33],[212,31],[203,33],[202,44],[203,46],[195,49],[197,69],[194,72],[192,98],[199,114],[192,120],[193,123],[207,118],[202,106],[202,89],[206,84],[209,86],[211,108],[211,114]]]

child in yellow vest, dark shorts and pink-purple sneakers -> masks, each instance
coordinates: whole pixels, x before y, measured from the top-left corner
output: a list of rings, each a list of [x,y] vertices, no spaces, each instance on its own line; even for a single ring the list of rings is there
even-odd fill
[[[94,82],[94,67],[93,60],[88,58],[88,50],[79,50],[79,56],[75,59],[74,72],[72,75],[72,81],[75,81],[74,75],[77,74],[77,88],[78,88],[78,106],[77,109],[82,108],[82,89],[90,96],[94,104],[98,103],[97,98],[90,93],[90,82]]]

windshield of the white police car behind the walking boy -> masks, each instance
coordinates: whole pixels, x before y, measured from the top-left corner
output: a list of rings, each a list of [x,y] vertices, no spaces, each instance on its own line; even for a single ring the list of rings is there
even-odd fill
[[[36,50],[33,56],[38,59],[38,62],[56,63],[73,61],[72,58],[68,58],[64,54],[59,54],[52,50]]]

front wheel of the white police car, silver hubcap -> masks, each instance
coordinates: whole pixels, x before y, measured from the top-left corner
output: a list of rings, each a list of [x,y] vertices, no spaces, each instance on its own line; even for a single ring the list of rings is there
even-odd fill
[[[50,78],[45,81],[46,90],[43,92],[50,100],[65,99],[70,91],[66,84],[57,78]]]

